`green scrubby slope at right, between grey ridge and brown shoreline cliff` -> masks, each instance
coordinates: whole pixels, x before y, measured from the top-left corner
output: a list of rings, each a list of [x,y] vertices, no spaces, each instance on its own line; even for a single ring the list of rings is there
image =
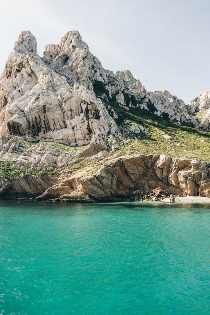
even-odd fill
[[[125,154],[167,154],[172,157],[210,161],[210,133],[196,130],[189,126],[159,117],[147,110],[130,107],[129,111],[114,102],[106,102],[106,107],[111,106],[118,115],[116,123],[123,128],[123,123],[130,121],[140,124],[149,132],[142,132],[138,140],[124,146],[117,153]]]

